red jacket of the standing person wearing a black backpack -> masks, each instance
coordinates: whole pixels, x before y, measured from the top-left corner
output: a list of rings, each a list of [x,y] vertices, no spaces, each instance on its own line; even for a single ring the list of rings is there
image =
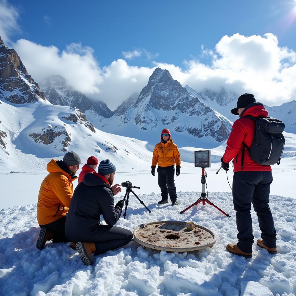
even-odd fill
[[[242,142],[244,142],[248,147],[251,147],[254,138],[255,121],[250,118],[244,118],[246,115],[253,117],[267,117],[268,112],[264,109],[263,105],[254,103],[254,106],[245,109],[240,115],[240,118],[234,121],[226,143],[227,147],[223,155],[223,161],[226,163],[230,163],[233,159],[234,172],[242,171]],[[260,170],[271,172],[271,166],[255,163],[255,161],[250,158],[249,151],[244,149],[243,171]]]

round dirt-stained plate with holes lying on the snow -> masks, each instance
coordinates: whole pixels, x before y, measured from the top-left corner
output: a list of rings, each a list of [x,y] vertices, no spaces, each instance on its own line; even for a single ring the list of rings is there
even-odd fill
[[[212,247],[217,238],[210,229],[194,224],[193,230],[186,229],[186,222],[157,221],[137,227],[133,231],[135,242],[144,247],[169,252],[188,252]]]

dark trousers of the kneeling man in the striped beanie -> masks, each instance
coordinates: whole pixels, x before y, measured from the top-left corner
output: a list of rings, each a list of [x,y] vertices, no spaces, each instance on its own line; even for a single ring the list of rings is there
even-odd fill
[[[94,242],[96,252],[94,255],[103,254],[128,244],[133,238],[133,233],[125,228],[109,225],[98,225],[86,242]]]

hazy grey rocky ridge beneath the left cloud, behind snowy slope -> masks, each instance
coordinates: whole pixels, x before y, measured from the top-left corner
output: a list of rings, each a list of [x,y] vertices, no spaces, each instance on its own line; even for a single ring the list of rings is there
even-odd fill
[[[75,91],[67,85],[61,75],[52,75],[40,85],[46,99],[54,105],[70,106],[80,109],[83,113],[92,110],[104,118],[109,118],[113,112],[101,101],[93,101],[86,95]]]

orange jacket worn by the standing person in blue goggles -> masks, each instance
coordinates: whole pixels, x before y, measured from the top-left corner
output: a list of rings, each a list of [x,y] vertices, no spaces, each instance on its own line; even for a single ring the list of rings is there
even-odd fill
[[[180,165],[181,166],[181,157],[179,149],[176,144],[173,143],[173,140],[170,139],[166,143],[160,142],[155,145],[152,157],[152,165],[160,167],[167,167],[170,165]]]

